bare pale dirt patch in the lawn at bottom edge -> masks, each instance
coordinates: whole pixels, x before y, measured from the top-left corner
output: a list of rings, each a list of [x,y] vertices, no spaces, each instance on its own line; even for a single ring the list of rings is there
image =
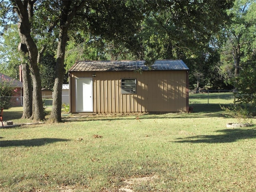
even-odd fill
[[[124,180],[123,182],[126,184],[122,188],[119,189],[120,192],[135,192],[132,190],[132,186],[135,184],[140,184],[142,182],[153,182],[154,179],[157,179],[158,176],[146,176],[142,178],[130,178],[128,180]]]

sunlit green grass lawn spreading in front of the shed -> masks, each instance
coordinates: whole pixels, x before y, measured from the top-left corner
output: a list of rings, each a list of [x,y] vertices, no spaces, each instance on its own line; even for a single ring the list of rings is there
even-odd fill
[[[114,192],[144,176],[155,177],[129,188],[255,191],[256,127],[227,129],[232,120],[221,115],[219,102],[230,100],[219,95],[205,104],[197,97],[191,95],[190,114],[89,116],[1,129],[0,191]],[[19,122],[13,110],[6,113]]]

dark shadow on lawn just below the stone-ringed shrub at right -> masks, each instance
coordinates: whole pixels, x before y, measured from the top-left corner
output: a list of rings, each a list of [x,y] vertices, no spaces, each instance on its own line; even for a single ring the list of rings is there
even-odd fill
[[[179,143],[230,143],[241,139],[256,138],[256,128],[224,129],[216,131],[217,135],[197,135],[186,138],[177,138]],[[224,134],[223,134],[224,133]]]

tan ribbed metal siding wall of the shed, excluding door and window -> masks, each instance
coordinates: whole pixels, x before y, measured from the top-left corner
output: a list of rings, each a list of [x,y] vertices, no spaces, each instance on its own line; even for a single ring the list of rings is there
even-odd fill
[[[187,111],[186,71],[72,72],[71,112],[76,112],[75,77],[93,77],[93,112]],[[136,94],[121,94],[121,78],[136,78]]]

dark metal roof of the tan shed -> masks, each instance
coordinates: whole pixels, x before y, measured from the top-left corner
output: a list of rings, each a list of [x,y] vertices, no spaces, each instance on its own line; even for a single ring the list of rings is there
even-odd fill
[[[189,70],[182,60],[156,60],[147,66],[144,60],[77,61],[69,72],[83,71],[134,71],[134,70]]]

